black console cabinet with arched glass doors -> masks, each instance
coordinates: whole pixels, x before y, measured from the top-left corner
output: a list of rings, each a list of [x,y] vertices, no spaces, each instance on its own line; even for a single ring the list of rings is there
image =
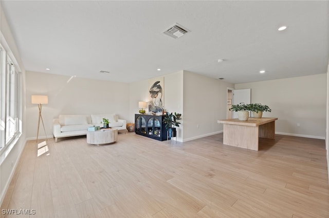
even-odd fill
[[[135,114],[135,133],[159,141],[167,140],[163,115]]]

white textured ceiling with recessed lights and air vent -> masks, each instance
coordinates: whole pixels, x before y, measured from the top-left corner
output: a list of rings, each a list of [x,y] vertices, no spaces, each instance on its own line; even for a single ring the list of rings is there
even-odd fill
[[[328,1],[1,5],[28,71],[134,82],[188,70],[244,83],[327,69]],[[175,23],[191,32],[178,39],[162,33]],[[288,28],[279,32],[282,25]],[[220,58],[225,61],[218,63]],[[262,69],[266,72],[260,74]]]

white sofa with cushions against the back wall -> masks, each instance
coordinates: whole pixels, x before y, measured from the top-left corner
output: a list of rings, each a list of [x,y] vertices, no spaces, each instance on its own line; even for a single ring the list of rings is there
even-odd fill
[[[126,129],[126,121],[121,120],[114,113],[111,114],[92,114],[92,115],[59,115],[52,122],[52,133],[55,137],[55,142],[60,137],[69,137],[77,135],[86,135],[88,127],[100,126],[103,127],[103,118],[109,121],[109,127],[115,127],[118,130]]]

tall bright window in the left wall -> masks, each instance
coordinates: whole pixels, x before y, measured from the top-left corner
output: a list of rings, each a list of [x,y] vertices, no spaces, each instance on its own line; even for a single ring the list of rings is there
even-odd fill
[[[21,73],[0,45],[0,151],[14,142],[22,132]]]

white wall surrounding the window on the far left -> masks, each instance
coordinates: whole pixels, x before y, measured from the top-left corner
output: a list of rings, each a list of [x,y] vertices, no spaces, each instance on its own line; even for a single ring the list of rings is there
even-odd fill
[[[23,62],[21,60],[20,53],[17,49],[17,46],[15,44],[14,38],[12,36],[10,27],[8,25],[7,19],[5,17],[5,14],[3,13],[3,10],[1,8],[1,1],[0,1],[0,41],[1,44],[5,47],[7,52],[11,52],[12,55],[15,57],[15,60],[12,60],[15,62],[15,64],[19,65],[20,71],[22,73],[22,119],[25,120],[25,69],[23,66]],[[22,127],[22,135],[15,143],[11,149],[6,149],[6,151],[2,151],[2,154],[0,155],[0,204],[3,203],[6,191],[8,189],[8,186],[10,184],[12,175],[15,171],[15,168],[17,166],[17,163],[19,162],[19,159],[21,157],[22,151],[24,149],[24,146],[26,144],[26,125],[23,122]]]

